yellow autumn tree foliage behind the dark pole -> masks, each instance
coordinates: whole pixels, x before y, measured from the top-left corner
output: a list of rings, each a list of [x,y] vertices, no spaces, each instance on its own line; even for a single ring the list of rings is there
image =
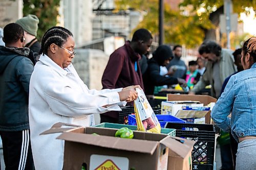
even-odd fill
[[[243,12],[245,7],[255,8],[256,0],[233,1],[234,12]],[[158,35],[159,0],[115,0],[117,9],[135,9],[144,13],[144,19],[138,28],[146,28]],[[223,13],[223,0],[184,0],[180,10],[164,4],[165,43],[186,44],[195,47],[215,34],[219,25],[219,15]],[[217,14],[217,15],[215,15]]]

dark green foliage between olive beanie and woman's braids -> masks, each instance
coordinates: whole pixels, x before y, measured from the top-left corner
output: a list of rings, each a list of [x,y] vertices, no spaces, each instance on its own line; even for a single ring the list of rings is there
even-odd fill
[[[60,0],[24,0],[23,14],[34,14],[39,18],[37,38],[40,41],[45,32],[57,25]]]

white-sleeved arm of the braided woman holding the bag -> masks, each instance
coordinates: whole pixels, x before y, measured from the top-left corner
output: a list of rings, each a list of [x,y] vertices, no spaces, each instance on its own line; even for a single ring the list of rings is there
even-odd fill
[[[83,114],[121,110],[117,105],[120,103],[118,92],[90,94],[88,91],[77,90],[65,80],[57,79],[54,76],[47,76],[42,82],[48,82],[45,87],[42,85],[41,88],[45,88],[45,101],[56,114],[75,117]]]

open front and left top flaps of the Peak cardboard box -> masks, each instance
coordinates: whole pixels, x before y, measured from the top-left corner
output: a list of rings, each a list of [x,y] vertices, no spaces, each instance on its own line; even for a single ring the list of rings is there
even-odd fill
[[[71,126],[72,128],[61,128],[62,126]],[[115,129],[106,129],[106,128],[96,128],[96,127],[87,127],[87,129],[93,132],[93,129],[104,129],[109,131],[116,131]],[[72,125],[72,124],[65,124],[65,123],[56,123],[54,124],[51,129],[42,132],[42,134],[50,134],[50,133],[57,133],[63,132],[61,135],[57,137],[57,139],[63,139],[66,141],[72,142],[79,142],[84,144],[91,144],[97,145],[99,147],[104,148],[113,148],[118,150],[125,150],[125,151],[134,151],[140,153],[146,153],[153,155],[155,150],[157,149],[160,143],[165,141],[166,136],[164,134],[155,134],[155,133],[144,133],[144,132],[134,132],[137,135],[140,134],[142,137],[144,136],[146,139],[149,140],[142,140],[142,139],[123,139],[114,136],[105,136],[105,135],[92,135],[84,133],[86,132],[85,127]],[[113,133],[113,132],[112,132]],[[160,140],[160,141],[159,141]],[[165,142],[166,143],[166,142]],[[167,143],[166,147],[170,144]]]

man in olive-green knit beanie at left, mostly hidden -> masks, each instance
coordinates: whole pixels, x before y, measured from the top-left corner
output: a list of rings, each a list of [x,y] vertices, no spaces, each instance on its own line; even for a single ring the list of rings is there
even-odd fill
[[[23,28],[25,36],[25,47],[28,47],[31,51],[33,51],[34,60],[37,62],[40,57],[39,51],[41,48],[40,43],[36,39],[39,19],[36,15],[29,14],[28,16],[18,19],[16,23]]]

